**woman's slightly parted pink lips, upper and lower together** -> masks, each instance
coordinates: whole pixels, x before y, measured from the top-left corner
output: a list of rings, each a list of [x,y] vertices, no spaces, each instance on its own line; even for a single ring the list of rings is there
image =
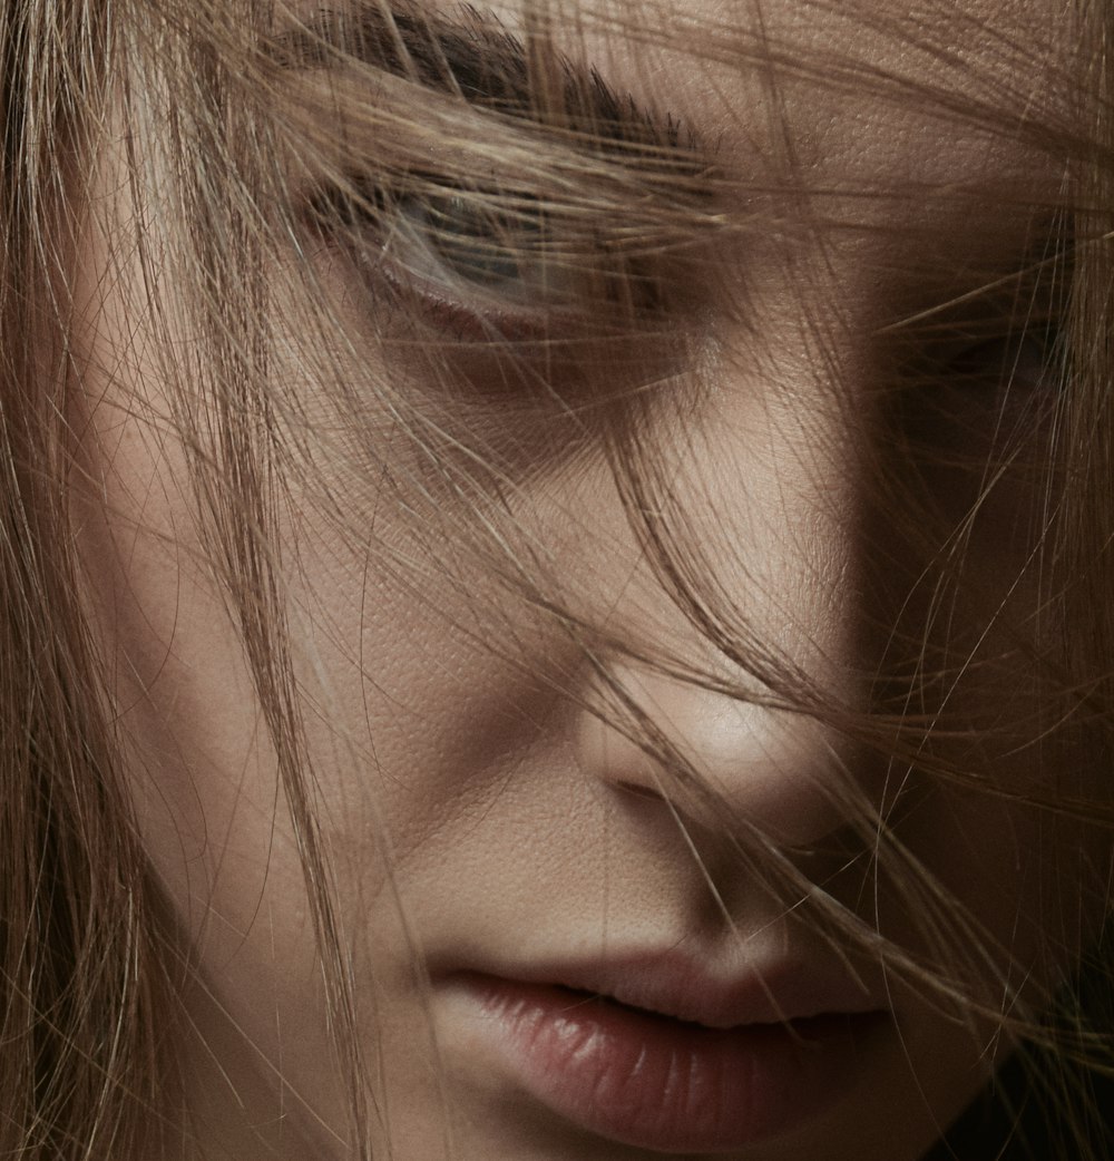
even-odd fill
[[[446,982],[513,1084],[581,1130],[654,1152],[739,1149],[812,1119],[890,1023],[842,976],[717,980],[671,956]]]

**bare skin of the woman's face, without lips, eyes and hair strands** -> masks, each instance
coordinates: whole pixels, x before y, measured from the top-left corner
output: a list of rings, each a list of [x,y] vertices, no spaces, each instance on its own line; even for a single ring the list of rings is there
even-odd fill
[[[956,12],[935,6],[926,27],[947,30]],[[686,55],[701,51],[694,29],[706,20],[753,27],[750,7],[688,0],[685,13],[693,41],[680,49],[675,38],[668,50],[616,44],[588,27],[585,52],[612,82],[719,142],[724,172],[757,187],[783,178],[775,127],[764,116],[766,81],[731,58],[696,70]],[[1006,41],[1048,43],[1042,26],[1051,14],[1041,3],[963,13]],[[939,62],[909,53],[899,36],[865,33],[862,13],[804,13],[794,0],[771,0],[764,15],[772,42],[801,57],[818,46],[836,58],[852,53],[912,84],[965,86],[971,99],[986,75],[1020,75],[1022,88],[1043,92],[1050,73],[1042,70],[1061,63],[1050,48],[1036,67],[1011,72],[992,37],[963,36],[960,58],[974,67],[955,64],[954,75],[941,78]],[[511,28],[520,23],[513,7],[501,16]],[[854,225],[798,239],[791,253],[772,235],[721,247],[709,276],[707,345],[695,366],[672,376],[695,402],[660,408],[654,434],[690,513],[693,541],[726,578],[757,636],[825,695],[862,709],[861,675],[887,656],[877,622],[900,623],[919,640],[928,601],[918,583],[923,545],[887,527],[885,510],[867,498],[878,448],[859,418],[884,366],[880,329],[902,310],[957,293],[964,267],[1017,265],[1033,214],[1023,204],[1003,209],[1004,197],[1022,190],[1014,204],[1046,201],[1061,174],[1018,134],[957,123],[931,102],[833,94],[789,77],[781,92],[810,208]],[[109,157],[109,205],[122,196],[114,164]],[[883,196],[863,208],[830,193],[862,187]],[[913,197],[913,188],[927,193]],[[725,212],[746,204],[740,194]],[[187,1155],[340,1159],[343,1103],[294,828],[239,635],[203,563],[186,455],[173,432],[165,434],[171,390],[157,339],[129,305],[138,272],[128,259],[110,259],[108,237],[129,229],[126,208],[117,212],[108,226],[91,224],[79,265],[85,366],[74,408],[88,437],[80,454],[88,486],[80,490],[78,535],[91,611],[117,675],[137,815],[200,969],[182,1031],[194,1115]],[[350,268],[327,250],[313,260],[352,320],[360,300]],[[114,277],[106,280],[109,267]],[[746,326],[729,308],[740,269],[754,318]],[[291,309],[302,293],[290,279]],[[827,368],[817,366],[810,324],[829,337]],[[353,374],[378,373],[382,352],[369,346],[361,355]],[[302,401],[320,394],[292,347],[276,380]],[[847,398],[851,409],[839,405]],[[939,437],[945,447],[985,454],[968,428],[994,406],[993,398],[961,397]],[[515,419],[506,446],[483,417],[449,418],[501,457],[518,527],[547,546],[563,598],[588,626],[761,693],[654,578],[601,440],[565,455],[547,440],[543,414]],[[454,545],[456,502],[435,507],[422,499],[412,444],[385,414],[372,426],[371,459],[386,466],[378,479],[356,470],[357,455],[331,442],[327,424],[313,433],[324,475],[295,489],[282,513],[281,554],[316,807],[361,1046],[379,1077],[378,1144],[389,1141],[402,1161],[649,1156],[535,1102],[477,1048],[473,1014],[443,980],[460,967],[679,946],[711,971],[780,958],[819,974],[849,973],[865,996],[895,1011],[891,1031],[856,1063],[839,1101],[728,1154],[732,1161],[919,1158],[984,1083],[992,1026],[963,1026],[900,972],[887,979],[849,936],[844,945],[825,939],[809,907],[740,870],[707,805],[683,794],[671,805],[658,764],[593,712],[599,678],[580,650],[494,583],[475,553]],[[382,483],[388,476],[393,486]],[[971,481],[941,470],[929,482],[945,520],[957,522]],[[349,513],[343,521],[324,513],[325,490]],[[1041,748],[1017,737],[970,741],[1003,688],[1023,701],[1034,684],[1007,630],[984,634],[986,608],[1005,600],[1008,622],[1034,599],[1027,582],[1013,583],[1028,550],[1015,529],[1033,503],[1023,474],[1007,475],[975,524],[965,576],[979,596],[956,603],[949,641],[957,654],[978,641],[978,656],[992,661],[959,680],[954,701],[963,714],[948,722],[960,741],[941,742],[939,752],[991,770],[1003,784],[1093,793],[1093,756],[1075,735],[1051,733]],[[885,560],[880,543],[891,553]],[[489,648],[493,640],[506,648]],[[1078,895],[1093,853],[1077,829],[962,785],[902,777],[902,767],[895,772],[806,715],[681,684],[619,651],[606,664],[730,814],[918,964],[933,968],[948,957],[885,875],[871,897],[862,820],[877,812],[895,810],[900,842],[992,950],[992,969],[963,975],[964,988],[993,1008],[1001,989],[992,981],[1012,959],[1033,976],[1023,994],[1037,1002],[1071,969],[1085,932],[1064,901]],[[1033,721],[1034,733],[1043,728],[1039,713]],[[842,793],[848,786],[852,802]],[[1046,931],[1058,933],[1054,954],[1046,954]]]

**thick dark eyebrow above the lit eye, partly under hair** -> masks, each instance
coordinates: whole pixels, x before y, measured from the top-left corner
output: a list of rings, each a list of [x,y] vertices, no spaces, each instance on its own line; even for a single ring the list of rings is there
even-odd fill
[[[617,92],[594,66],[542,41],[528,46],[493,13],[466,5],[458,12],[454,19],[415,2],[353,0],[282,34],[274,58],[282,68],[305,70],[357,62],[479,109],[559,129],[593,152],[672,157],[674,165],[707,157],[690,129]]]

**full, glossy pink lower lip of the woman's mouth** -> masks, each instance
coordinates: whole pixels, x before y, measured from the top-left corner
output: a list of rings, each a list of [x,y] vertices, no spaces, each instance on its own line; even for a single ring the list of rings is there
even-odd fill
[[[704,1027],[565,988],[464,981],[480,1036],[554,1112],[622,1145],[743,1148],[797,1127],[854,1081],[881,1012]]]

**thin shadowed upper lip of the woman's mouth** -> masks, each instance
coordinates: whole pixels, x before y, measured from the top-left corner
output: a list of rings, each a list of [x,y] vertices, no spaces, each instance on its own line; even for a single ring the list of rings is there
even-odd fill
[[[508,982],[570,988],[721,1029],[861,1015],[887,1007],[847,966],[796,959],[751,962],[719,974],[692,956],[670,950],[515,966],[482,974]]]

